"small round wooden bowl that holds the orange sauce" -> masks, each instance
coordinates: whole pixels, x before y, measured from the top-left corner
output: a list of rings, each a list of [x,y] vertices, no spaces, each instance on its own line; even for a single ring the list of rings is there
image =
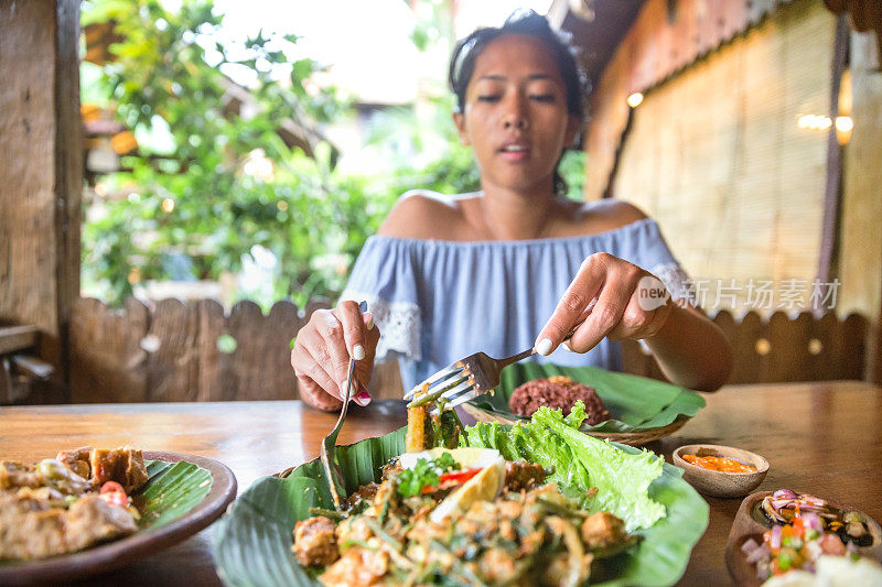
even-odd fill
[[[682,459],[682,455],[699,457],[728,457],[755,467],[753,472],[723,472],[706,469]],[[682,478],[701,493],[716,498],[746,496],[765,479],[768,461],[747,450],[716,444],[689,444],[674,452],[674,464],[684,470]]]

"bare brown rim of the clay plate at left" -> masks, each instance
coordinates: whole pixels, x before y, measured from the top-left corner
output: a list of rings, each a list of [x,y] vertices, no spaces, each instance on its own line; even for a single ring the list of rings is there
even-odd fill
[[[137,561],[183,541],[217,520],[236,497],[236,477],[226,465],[196,455],[144,450],[146,460],[185,460],[212,474],[208,494],[184,515],[157,529],[77,553],[24,563],[0,563],[0,585],[69,581],[103,573]]]

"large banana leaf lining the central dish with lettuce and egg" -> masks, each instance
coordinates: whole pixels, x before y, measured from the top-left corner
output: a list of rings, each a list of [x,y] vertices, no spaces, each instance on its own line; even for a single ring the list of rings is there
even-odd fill
[[[636,448],[616,445],[635,454]],[[352,491],[378,479],[380,468],[405,452],[405,428],[337,448]],[[682,471],[664,466],[649,486],[649,496],[663,503],[667,517],[638,532],[643,540],[628,553],[604,562],[594,580],[607,586],[673,585],[682,576],[689,554],[708,525],[708,504],[681,478]],[[332,508],[319,459],[301,465],[286,479],[265,477],[234,503],[218,523],[214,559],[227,586],[318,586],[315,574],[298,565],[291,553],[292,531],[310,517],[312,507]]]

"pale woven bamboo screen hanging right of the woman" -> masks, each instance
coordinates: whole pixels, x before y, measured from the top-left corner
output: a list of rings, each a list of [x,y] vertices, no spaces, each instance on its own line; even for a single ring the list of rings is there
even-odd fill
[[[827,132],[797,122],[829,111],[835,26],[820,2],[782,7],[648,93],[622,145],[613,195],[659,220],[692,278],[736,280],[736,307],[751,279],[815,279]]]

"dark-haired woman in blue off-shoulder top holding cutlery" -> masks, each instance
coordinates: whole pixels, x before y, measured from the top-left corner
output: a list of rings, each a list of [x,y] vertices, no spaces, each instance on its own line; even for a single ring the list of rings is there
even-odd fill
[[[664,290],[647,297],[646,285],[659,283],[653,273],[688,297],[655,221],[623,202],[561,195],[557,165],[582,124],[584,90],[546,20],[518,13],[475,31],[454,51],[450,84],[482,189],[415,191],[397,203],[365,243],[344,301],[298,333],[291,362],[303,400],[338,409],[349,357],[355,401],[366,405],[375,359],[398,358],[409,389],[478,350],[535,346],[560,365],[621,369],[624,339],[644,340],[671,381],[718,389],[731,370],[720,329]]]

